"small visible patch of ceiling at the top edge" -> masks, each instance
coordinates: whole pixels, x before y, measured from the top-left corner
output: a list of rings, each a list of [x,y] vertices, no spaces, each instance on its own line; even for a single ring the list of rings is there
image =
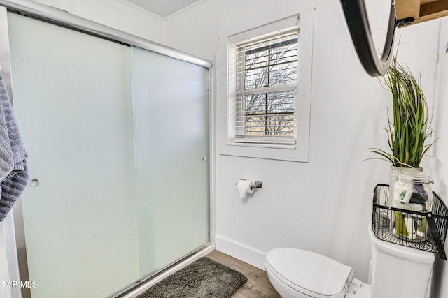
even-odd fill
[[[202,0],[126,0],[160,17],[169,17]]]

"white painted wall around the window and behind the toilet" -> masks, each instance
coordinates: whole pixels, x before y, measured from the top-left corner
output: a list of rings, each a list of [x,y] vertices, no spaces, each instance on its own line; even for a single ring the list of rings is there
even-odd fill
[[[358,61],[339,1],[316,1],[309,163],[221,154],[228,36],[294,15],[303,2],[206,1],[167,20],[167,45],[216,61],[217,248],[258,267],[271,248],[304,248],[353,266],[367,281],[372,191],[388,183],[389,164],[364,160],[375,157],[365,152],[369,147],[387,148],[387,100]],[[434,93],[438,24],[398,29],[397,36],[399,59],[421,71],[428,98]],[[241,200],[239,178],[262,181],[263,187]]]

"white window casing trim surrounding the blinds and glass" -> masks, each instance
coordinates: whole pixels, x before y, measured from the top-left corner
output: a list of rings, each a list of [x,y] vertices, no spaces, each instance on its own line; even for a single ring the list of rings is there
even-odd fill
[[[300,19],[299,38],[299,69],[298,86],[295,93],[295,138],[294,142],[241,142],[235,140],[237,91],[235,71],[232,72],[232,63],[235,64],[235,44],[286,29],[297,25]],[[285,161],[309,161],[309,121],[311,108],[311,71],[314,31],[314,8],[302,11],[286,19],[267,24],[256,29],[245,31],[229,37],[228,43],[228,129],[227,142],[221,154],[232,156],[247,156],[254,158],[268,158]],[[257,140],[255,140],[257,141]]]

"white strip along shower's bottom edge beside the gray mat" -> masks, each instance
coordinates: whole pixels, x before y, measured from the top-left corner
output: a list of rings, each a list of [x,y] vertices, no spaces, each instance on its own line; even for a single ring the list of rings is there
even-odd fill
[[[208,255],[212,251],[215,250],[215,246],[211,245],[207,248],[202,249],[201,251],[198,251],[194,255],[192,255],[190,258],[187,258],[186,260],[183,260],[182,262],[179,262],[173,267],[170,267],[169,269],[163,271],[161,274],[158,274],[157,276],[150,278],[148,281],[144,281],[144,283],[141,283],[141,285],[138,288],[135,288],[132,290],[132,292],[127,292],[125,295],[119,295],[119,298],[134,298],[137,297],[137,295],[140,295],[141,293],[145,292],[145,290],[148,290],[148,288],[151,288],[153,285],[158,283],[159,281],[162,281],[163,278],[173,274],[176,271],[179,271],[183,267],[186,267],[187,265],[190,265],[191,263],[195,262],[195,260],[204,257],[205,255]]]

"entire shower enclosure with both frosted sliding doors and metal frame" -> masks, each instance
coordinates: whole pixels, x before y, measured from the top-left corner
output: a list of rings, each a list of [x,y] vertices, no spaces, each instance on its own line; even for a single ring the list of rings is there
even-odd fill
[[[1,71],[29,154],[15,209],[22,297],[116,297],[210,246],[211,63],[0,5]]]

